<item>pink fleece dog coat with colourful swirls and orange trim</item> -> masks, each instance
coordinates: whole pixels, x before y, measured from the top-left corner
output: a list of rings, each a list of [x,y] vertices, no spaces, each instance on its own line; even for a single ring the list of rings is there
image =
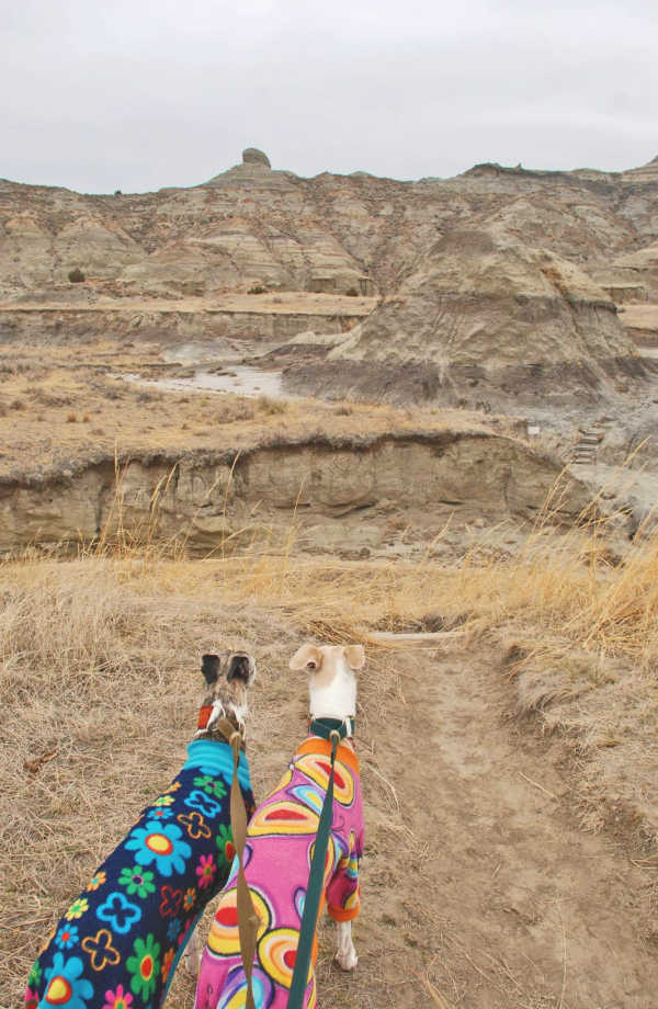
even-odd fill
[[[306,739],[283,780],[256,810],[247,831],[245,875],[258,916],[252,973],[258,1009],[285,1009],[295,966],[310,860],[329,782],[331,745]],[[333,819],[325,862],[324,894],[336,921],[355,918],[360,907],[359,860],[363,852],[363,804],[359,760],[347,746],[336,759]],[[195,1009],[245,1005],[236,908],[237,861],[211,926],[196,986]],[[316,949],[313,961],[315,963]],[[310,971],[304,1005],[316,1006]]]

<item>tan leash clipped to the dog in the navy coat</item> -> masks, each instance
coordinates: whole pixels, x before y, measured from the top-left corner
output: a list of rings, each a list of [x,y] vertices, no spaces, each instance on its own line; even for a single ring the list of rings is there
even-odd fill
[[[240,759],[240,748],[243,747],[245,736],[239,729],[236,729],[226,718],[220,718],[213,723],[213,732],[219,732],[230,745],[234,755],[234,774],[230,783],[230,829],[232,834],[236,854],[238,855],[238,880],[237,880],[237,908],[238,908],[238,934],[240,937],[240,955],[242,957],[242,968],[247,978],[247,1009],[256,1009],[253,1001],[253,990],[251,986],[251,972],[253,971],[253,957],[256,955],[256,942],[260,918],[253,906],[247,878],[245,876],[245,844],[247,843],[247,810],[245,800],[240,791],[238,781],[238,761]]]

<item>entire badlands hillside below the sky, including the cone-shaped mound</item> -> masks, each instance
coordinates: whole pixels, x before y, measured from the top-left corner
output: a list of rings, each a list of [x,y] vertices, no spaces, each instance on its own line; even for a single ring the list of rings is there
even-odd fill
[[[300,388],[593,399],[650,367],[623,307],[658,301],[657,249],[658,159],[621,173],[480,165],[399,182],[302,179],[249,150],[201,185],[157,193],[0,181],[0,338],[37,339],[41,322],[60,339],[106,332],[115,310],[131,331],[125,310],[137,328],[148,305],[170,309],[169,321],[149,317],[148,336],[166,339],[184,299],[184,336],[203,339],[208,310],[240,295],[251,331],[259,318],[270,335],[310,330],[286,349]],[[295,318],[273,330],[268,317],[285,314],[291,293]],[[103,311],[48,330],[33,315],[46,306],[50,319]]]

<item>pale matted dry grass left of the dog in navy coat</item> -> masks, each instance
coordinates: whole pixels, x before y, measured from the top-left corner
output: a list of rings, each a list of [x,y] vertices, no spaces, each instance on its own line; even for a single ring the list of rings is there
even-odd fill
[[[253,600],[225,599],[215,568],[137,556],[2,566],[1,1006],[18,1005],[41,937],[179,770],[202,651],[258,656],[250,730],[259,794],[303,732],[303,705],[296,718],[281,677],[300,632]],[[363,678],[376,693],[373,716],[386,682],[376,668]],[[155,744],[148,755],[145,737]],[[190,1002],[180,974],[173,1007]]]

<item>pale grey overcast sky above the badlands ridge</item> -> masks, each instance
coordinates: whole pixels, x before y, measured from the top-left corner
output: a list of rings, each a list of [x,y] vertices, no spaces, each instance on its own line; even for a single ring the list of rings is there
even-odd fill
[[[194,185],[265,150],[299,175],[643,165],[655,0],[13,0],[0,178]]]

